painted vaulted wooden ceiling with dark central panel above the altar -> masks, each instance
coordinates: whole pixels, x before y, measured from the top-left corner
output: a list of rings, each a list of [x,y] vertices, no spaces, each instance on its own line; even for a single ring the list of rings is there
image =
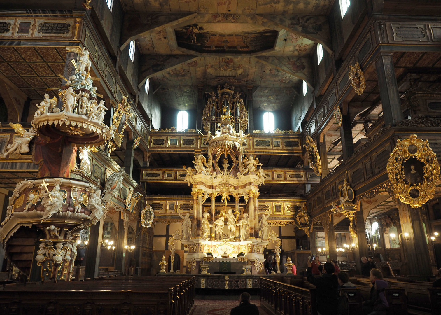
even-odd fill
[[[140,50],[161,104],[195,109],[204,92],[253,86],[253,105],[288,110],[303,80],[314,85],[316,43],[330,50],[331,0],[122,0],[122,48]]]

